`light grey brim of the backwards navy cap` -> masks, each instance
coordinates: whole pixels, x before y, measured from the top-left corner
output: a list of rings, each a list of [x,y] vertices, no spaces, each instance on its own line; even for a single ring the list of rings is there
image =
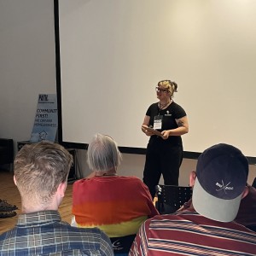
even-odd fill
[[[201,187],[198,178],[193,187],[192,203],[195,211],[201,215],[221,222],[230,222],[236,218],[241,195],[235,199],[223,200],[207,193]]]

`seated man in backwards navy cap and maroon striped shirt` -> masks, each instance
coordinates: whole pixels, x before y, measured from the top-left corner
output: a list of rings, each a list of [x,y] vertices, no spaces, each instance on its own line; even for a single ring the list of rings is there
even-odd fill
[[[256,233],[233,221],[247,175],[247,158],[238,148],[207,148],[190,174],[191,206],[146,220],[129,255],[255,255]]]

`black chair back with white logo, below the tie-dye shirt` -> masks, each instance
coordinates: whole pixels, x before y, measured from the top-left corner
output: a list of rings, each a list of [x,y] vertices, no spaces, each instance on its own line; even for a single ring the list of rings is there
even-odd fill
[[[121,236],[121,237],[110,237],[112,242],[114,255],[125,256],[128,255],[132,242],[135,239],[135,235]]]

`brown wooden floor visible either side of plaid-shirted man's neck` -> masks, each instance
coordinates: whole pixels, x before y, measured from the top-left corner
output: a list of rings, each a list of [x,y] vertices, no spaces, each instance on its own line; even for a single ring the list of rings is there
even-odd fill
[[[72,184],[67,185],[66,195],[61,203],[59,212],[63,221],[71,222],[71,207],[72,207]],[[6,200],[9,204],[19,207],[16,210],[17,215],[12,218],[0,218],[0,234],[12,229],[16,222],[17,216],[20,213],[21,200],[19,190],[16,188],[13,173],[7,171],[0,171],[0,199]]]

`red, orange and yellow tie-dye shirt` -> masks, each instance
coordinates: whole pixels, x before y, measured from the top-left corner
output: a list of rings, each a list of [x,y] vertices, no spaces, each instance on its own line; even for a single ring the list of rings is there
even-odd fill
[[[148,187],[137,177],[84,178],[73,184],[73,225],[98,227],[109,237],[136,234],[159,214]]]

